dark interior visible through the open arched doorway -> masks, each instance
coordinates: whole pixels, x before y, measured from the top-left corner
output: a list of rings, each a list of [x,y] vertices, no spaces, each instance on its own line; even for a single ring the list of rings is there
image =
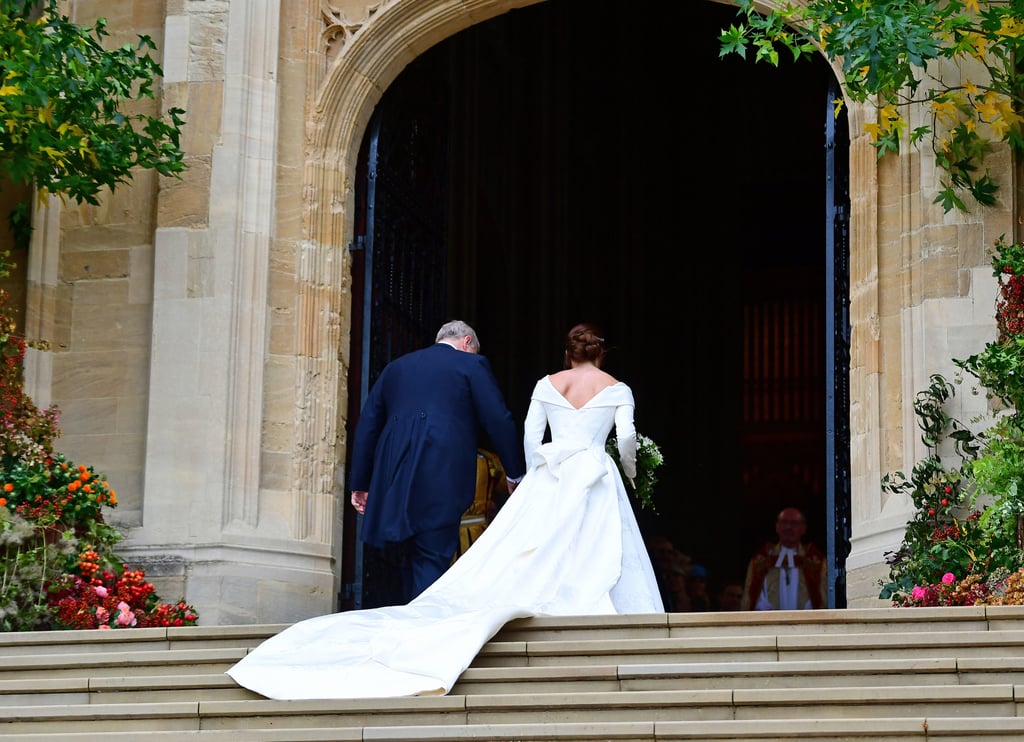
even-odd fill
[[[720,58],[735,9],[685,7],[638,33],[621,3],[550,0],[415,64],[452,101],[446,316],[476,326],[520,421],[535,382],[561,367],[565,331],[604,328],[605,368],[667,461],[641,527],[714,588],[742,578],[784,506],[828,540],[834,78],[821,59]]]

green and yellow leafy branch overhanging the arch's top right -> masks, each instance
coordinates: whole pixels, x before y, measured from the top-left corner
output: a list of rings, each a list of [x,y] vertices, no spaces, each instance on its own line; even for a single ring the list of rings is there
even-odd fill
[[[842,70],[850,100],[870,100],[878,120],[864,125],[880,158],[930,141],[946,173],[934,203],[968,211],[962,193],[995,203],[997,184],[985,158],[993,142],[1024,148],[1024,0],[808,0],[767,13],[736,0],[741,20],[722,30],[720,55],[777,67],[823,53]],[[931,123],[908,131],[907,110],[927,106]],[[837,113],[843,101],[836,101]]]

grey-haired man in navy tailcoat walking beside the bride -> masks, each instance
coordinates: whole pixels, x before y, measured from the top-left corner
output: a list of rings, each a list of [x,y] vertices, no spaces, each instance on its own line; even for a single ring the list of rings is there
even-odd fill
[[[526,473],[522,438],[476,332],[453,320],[436,342],[381,372],[359,413],[348,484],[364,514],[360,537],[406,555],[408,603],[447,569],[476,491],[476,449],[486,435],[509,493]]]

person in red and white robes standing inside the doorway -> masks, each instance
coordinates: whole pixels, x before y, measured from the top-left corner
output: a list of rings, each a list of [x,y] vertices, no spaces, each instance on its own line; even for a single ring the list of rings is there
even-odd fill
[[[778,540],[751,558],[743,582],[741,610],[792,611],[827,607],[825,555],[804,543],[807,520],[797,508],[775,518]]]

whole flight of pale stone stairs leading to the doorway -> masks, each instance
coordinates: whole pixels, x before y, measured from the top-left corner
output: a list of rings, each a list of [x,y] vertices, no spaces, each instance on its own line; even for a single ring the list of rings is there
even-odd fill
[[[0,739],[1024,740],[1024,606],[509,623],[446,696],[270,701],[282,625],[0,634]]]

